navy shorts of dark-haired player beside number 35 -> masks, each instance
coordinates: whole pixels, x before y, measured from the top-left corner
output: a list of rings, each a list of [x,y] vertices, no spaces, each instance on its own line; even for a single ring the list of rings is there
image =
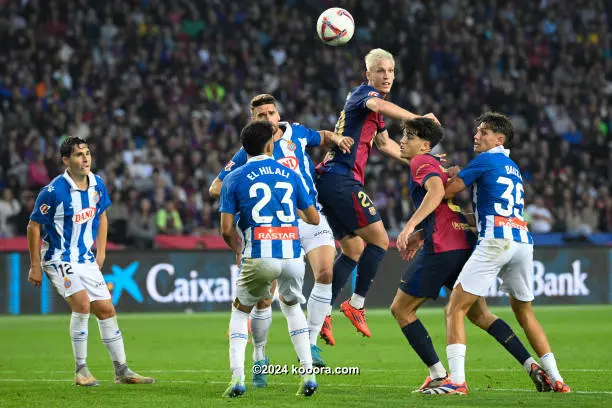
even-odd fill
[[[453,289],[471,249],[425,254],[421,251],[404,273],[400,289],[407,295],[437,299],[442,286]]]

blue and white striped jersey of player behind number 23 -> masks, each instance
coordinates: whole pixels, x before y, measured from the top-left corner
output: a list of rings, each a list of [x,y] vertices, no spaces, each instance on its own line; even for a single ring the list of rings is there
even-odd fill
[[[284,133],[274,143],[274,151],[272,152],[274,160],[300,176],[301,182],[314,200],[317,210],[321,210],[321,206],[317,202],[317,190],[315,188],[315,166],[308,152],[306,152],[306,147],[321,145],[321,135],[316,130],[309,129],[299,123],[279,122],[278,125],[281,129],[284,129]],[[240,148],[217,177],[223,181],[229,173],[243,166],[246,161],[247,154],[244,149]]]

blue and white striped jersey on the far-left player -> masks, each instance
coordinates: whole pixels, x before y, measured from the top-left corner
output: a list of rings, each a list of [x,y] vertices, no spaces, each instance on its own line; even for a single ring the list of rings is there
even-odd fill
[[[89,187],[79,190],[68,172],[38,194],[30,219],[43,226],[43,263],[91,263],[100,215],[111,205],[102,179],[89,173]]]

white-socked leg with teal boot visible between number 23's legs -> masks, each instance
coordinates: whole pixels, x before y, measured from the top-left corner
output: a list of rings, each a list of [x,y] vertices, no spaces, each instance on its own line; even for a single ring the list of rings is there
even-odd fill
[[[273,290],[274,287],[273,286]],[[266,354],[268,333],[272,324],[272,300],[260,300],[251,311],[251,335],[253,336],[253,385],[258,388],[268,385],[268,376],[262,366],[270,364]],[[258,368],[255,368],[255,367]]]

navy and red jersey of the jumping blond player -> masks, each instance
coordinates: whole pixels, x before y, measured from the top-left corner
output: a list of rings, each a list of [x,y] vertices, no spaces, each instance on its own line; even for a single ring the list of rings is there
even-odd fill
[[[370,98],[381,98],[381,95],[367,84],[359,85],[349,92],[334,131],[341,136],[352,137],[355,144],[347,154],[334,146],[317,166],[318,173],[351,175],[364,184],[365,164],[372,151],[374,136],[385,129],[383,116],[366,106]]]

